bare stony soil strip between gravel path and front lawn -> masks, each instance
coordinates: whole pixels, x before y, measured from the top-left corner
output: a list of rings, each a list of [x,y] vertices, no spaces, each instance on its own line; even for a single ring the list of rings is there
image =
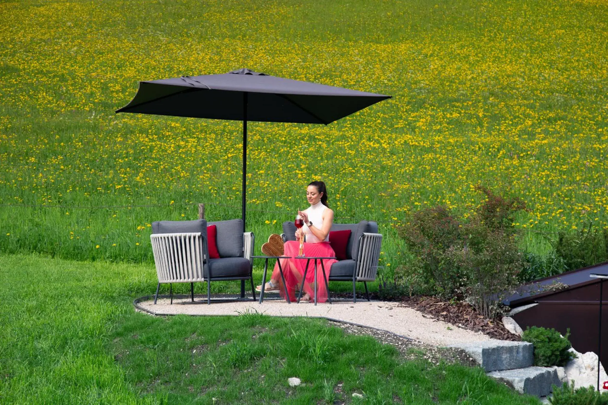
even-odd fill
[[[437,347],[421,341],[402,338],[401,336],[384,332],[383,330],[345,324],[342,322],[328,321],[328,323],[342,328],[344,332],[350,333],[351,335],[373,336],[373,338],[376,338],[381,343],[390,344],[395,347],[401,354],[401,357],[406,360],[425,359],[435,365],[439,364],[442,360],[450,364],[461,364],[463,366],[477,365],[477,362],[464,350]]]

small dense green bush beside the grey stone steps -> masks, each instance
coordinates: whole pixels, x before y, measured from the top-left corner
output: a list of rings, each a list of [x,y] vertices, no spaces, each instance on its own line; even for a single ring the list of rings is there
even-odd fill
[[[555,329],[546,329],[542,327],[528,327],[523,332],[522,341],[530,342],[534,345],[534,366],[563,367],[576,355],[568,352],[572,347],[568,340],[570,329],[566,335],[562,337]]]

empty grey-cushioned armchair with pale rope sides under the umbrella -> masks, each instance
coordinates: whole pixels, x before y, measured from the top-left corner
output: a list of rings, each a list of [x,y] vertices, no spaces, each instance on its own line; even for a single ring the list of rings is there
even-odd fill
[[[210,259],[207,225],[216,225],[216,244],[219,259]],[[158,284],[154,304],[162,283],[169,284],[173,304],[173,283],[189,282],[190,296],[194,301],[194,283],[207,282],[207,304],[211,303],[211,282],[247,280],[255,301],[253,280],[254,234],[243,233],[243,220],[209,222],[157,221],[152,223],[150,235]]]

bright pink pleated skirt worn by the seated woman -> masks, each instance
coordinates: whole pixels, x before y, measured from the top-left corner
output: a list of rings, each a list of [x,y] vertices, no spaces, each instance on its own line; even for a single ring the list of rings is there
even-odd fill
[[[283,268],[283,275],[285,276],[285,285],[281,279],[281,274],[278,270],[278,264],[274,265],[274,271],[272,271],[272,279],[278,280],[280,286],[281,296],[285,298],[289,296],[290,301],[296,301],[297,296],[295,290],[300,289],[302,285],[302,279],[306,270],[306,262],[308,262],[308,271],[306,271],[306,280],[304,282],[303,293],[308,293],[311,296],[311,301],[314,298],[314,259],[295,259],[298,251],[300,250],[300,242],[297,240],[288,240],[285,242],[285,256],[290,256],[291,259],[280,259],[281,267]],[[304,242],[304,254],[306,257],[334,257],[336,253],[331,248],[330,242],[320,243],[307,243]],[[325,279],[323,279],[323,270],[320,264],[320,260],[317,260],[317,302],[327,301],[327,288],[325,287],[325,281],[329,280],[330,268],[337,262],[336,259],[325,259],[323,260],[323,267],[325,267]]]

